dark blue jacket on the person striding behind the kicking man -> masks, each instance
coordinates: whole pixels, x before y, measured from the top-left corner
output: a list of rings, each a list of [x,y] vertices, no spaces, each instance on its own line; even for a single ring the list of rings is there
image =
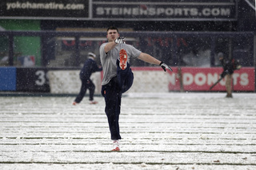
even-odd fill
[[[96,61],[89,58],[86,60],[85,64],[83,65],[81,71],[80,71],[80,78],[81,79],[90,79],[90,76],[92,73],[102,71],[102,68],[99,68]]]

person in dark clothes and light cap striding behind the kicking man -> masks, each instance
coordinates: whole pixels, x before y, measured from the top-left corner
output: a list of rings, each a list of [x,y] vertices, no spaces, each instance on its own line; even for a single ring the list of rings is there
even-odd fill
[[[90,104],[97,104],[97,101],[94,101],[94,91],[95,85],[93,81],[90,80],[90,76],[94,72],[102,71],[102,67],[98,67],[96,61],[94,61],[96,55],[95,53],[88,53],[88,59],[86,60],[85,64],[83,65],[81,72],[79,74],[80,80],[82,81],[80,93],[75,98],[73,105],[77,105],[82,101],[82,98],[86,95],[86,90],[89,89],[90,97],[89,101]]]

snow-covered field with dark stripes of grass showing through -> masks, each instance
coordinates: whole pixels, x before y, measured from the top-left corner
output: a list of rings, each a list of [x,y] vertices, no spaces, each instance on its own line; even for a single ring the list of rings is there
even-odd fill
[[[0,169],[256,169],[256,93],[128,93],[121,152],[102,97],[0,97]]]

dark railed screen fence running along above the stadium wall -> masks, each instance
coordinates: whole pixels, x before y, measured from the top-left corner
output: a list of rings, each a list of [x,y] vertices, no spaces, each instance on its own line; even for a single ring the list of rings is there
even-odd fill
[[[219,52],[227,57],[236,57],[244,66],[255,66],[253,32],[120,32],[127,43],[142,52],[166,61],[174,66],[216,66]],[[25,38],[25,39],[22,39]],[[26,38],[38,38],[33,44]],[[78,67],[86,53],[94,51],[106,42],[106,32],[61,32],[61,31],[0,31],[0,60],[7,56],[6,65],[17,65],[17,57],[35,55],[35,66]],[[21,44],[31,45],[22,50]],[[2,51],[1,51],[2,50]],[[2,55],[2,56],[1,56]],[[131,61],[134,65],[147,65]],[[54,64],[53,64],[54,63]],[[1,65],[5,66],[5,65]]]

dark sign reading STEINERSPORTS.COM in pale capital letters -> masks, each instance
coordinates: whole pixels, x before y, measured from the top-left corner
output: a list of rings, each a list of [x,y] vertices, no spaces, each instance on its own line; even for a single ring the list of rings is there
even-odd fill
[[[92,18],[100,20],[236,20],[234,1],[93,1]]]

